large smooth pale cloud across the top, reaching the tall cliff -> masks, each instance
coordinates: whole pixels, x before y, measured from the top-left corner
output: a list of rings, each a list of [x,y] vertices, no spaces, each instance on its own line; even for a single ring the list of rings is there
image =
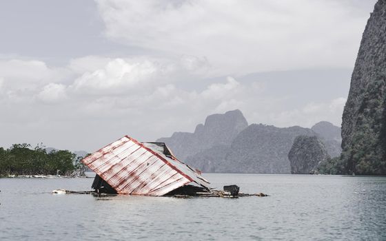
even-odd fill
[[[352,1],[96,1],[105,35],[245,74],[351,67],[372,4]],[[310,61],[312,60],[312,61]]]

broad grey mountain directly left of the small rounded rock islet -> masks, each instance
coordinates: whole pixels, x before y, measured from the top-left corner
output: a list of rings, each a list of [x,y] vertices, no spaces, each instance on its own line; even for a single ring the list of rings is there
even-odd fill
[[[252,124],[243,130],[231,145],[219,172],[290,174],[288,152],[296,136],[315,136],[303,127],[279,128]]]

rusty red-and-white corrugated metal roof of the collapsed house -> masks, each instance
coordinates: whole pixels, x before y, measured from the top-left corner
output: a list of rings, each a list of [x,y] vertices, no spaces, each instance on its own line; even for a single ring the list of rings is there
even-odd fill
[[[117,193],[163,196],[187,184],[209,189],[207,180],[172,154],[163,154],[159,145],[139,143],[130,136],[123,136],[82,162]]]

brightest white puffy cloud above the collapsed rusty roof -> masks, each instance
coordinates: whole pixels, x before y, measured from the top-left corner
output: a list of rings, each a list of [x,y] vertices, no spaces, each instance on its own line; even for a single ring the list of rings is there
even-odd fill
[[[81,76],[75,79],[70,88],[80,94],[149,92],[148,89],[151,91],[160,85],[202,78],[208,67],[205,59],[194,56],[181,56],[177,59],[151,56],[110,59],[88,56],[71,61],[70,70]]]

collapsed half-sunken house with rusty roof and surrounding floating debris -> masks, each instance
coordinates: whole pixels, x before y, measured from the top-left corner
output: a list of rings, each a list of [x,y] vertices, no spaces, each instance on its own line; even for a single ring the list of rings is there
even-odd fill
[[[176,198],[266,196],[263,193],[239,193],[237,185],[214,190],[201,171],[178,160],[165,143],[140,143],[130,136],[95,151],[81,160],[96,173],[94,191],[57,189],[57,194],[101,193],[142,196],[174,196]]]

